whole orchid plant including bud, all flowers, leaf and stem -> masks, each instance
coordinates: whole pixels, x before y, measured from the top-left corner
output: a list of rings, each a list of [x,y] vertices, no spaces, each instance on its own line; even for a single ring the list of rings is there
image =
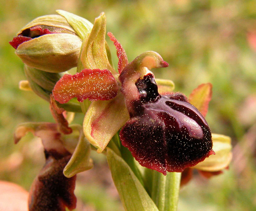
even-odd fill
[[[29,131],[40,137],[46,155],[30,191],[30,210],[74,209],[75,175],[92,168],[93,145],[106,153],[126,210],[175,211],[179,172],[183,185],[192,168],[216,175],[232,158],[230,138],[212,133],[205,119],[212,85],[198,86],[189,98],[173,92],[172,81],[156,79],[150,71],[168,67],[158,53],[144,52],[128,62],[108,32],[117,50],[116,72],[105,40],[105,14],[92,25],[57,12],[60,16],[35,19],[10,42],[25,63],[28,81],[20,86],[50,102],[56,121],[25,123],[15,131],[16,143]],[[66,40],[71,49],[65,45],[67,37],[74,38],[74,46],[72,39]],[[62,74],[74,66],[76,74]],[[82,111],[83,126],[69,125],[67,111]]]

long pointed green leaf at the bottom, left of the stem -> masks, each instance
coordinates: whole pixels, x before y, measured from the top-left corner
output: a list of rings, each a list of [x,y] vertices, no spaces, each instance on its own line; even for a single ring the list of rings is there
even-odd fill
[[[122,157],[107,148],[107,160],[124,209],[126,211],[158,211],[156,205]]]

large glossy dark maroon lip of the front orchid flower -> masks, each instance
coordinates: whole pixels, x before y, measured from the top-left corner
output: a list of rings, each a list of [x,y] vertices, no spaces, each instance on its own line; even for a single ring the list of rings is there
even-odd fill
[[[154,76],[136,82],[140,99],[120,131],[122,144],[144,167],[182,172],[213,154],[210,128],[182,94],[158,94]]]

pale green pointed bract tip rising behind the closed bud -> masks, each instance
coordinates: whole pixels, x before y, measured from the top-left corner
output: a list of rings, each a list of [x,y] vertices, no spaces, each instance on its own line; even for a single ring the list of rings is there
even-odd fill
[[[67,19],[68,23],[74,28],[82,40],[91,32],[93,24],[85,18],[64,10],[56,10],[56,12]]]

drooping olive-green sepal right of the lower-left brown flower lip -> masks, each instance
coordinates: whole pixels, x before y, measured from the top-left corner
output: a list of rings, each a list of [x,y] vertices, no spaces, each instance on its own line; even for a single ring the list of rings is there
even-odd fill
[[[90,159],[91,147],[90,143],[84,137],[81,125],[70,126],[73,130],[71,135],[65,135],[62,139],[64,142],[68,142],[68,139],[74,139],[75,133],[79,133],[78,144],[76,149],[70,158],[68,164],[65,166],[63,173],[66,177],[73,177],[77,173],[89,170],[93,167],[92,159]]]

